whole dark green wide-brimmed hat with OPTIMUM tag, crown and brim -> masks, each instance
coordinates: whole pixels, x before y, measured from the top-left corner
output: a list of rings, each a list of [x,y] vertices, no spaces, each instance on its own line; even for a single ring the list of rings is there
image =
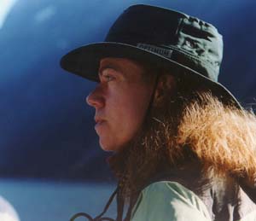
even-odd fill
[[[222,36],[211,24],[171,9],[139,4],[119,16],[104,42],[73,49],[61,58],[61,67],[99,81],[102,58],[141,61],[193,81],[222,102],[241,108],[235,96],[218,83],[222,55]]]

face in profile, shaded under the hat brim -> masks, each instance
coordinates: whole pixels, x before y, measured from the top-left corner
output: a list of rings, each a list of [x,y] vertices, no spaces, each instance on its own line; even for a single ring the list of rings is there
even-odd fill
[[[100,61],[99,84],[86,102],[95,108],[95,130],[105,151],[118,152],[143,124],[154,82],[135,61],[107,57]]]

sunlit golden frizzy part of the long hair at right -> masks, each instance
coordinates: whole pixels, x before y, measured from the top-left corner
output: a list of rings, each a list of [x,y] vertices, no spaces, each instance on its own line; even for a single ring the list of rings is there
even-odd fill
[[[205,167],[256,184],[256,117],[253,111],[225,107],[210,94],[204,105],[191,103],[183,111],[177,143],[188,145]]]

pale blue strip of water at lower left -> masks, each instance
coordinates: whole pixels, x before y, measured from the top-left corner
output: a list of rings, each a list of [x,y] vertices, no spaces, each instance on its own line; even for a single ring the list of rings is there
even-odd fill
[[[114,190],[112,184],[67,183],[0,179],[0,194],[20,216],[20,221],[68,221],[76,212],[92,217],[102,212]],[[108,216],[115,218],[115,203]],[[78,218],[76,221],[87,220]]]

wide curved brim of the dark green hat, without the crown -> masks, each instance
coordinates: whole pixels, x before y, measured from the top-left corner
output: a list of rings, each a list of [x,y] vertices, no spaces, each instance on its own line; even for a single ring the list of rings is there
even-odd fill
[[[176,71],[178,68],[182,68],[185,72],[182,72],[183,74],[178,77],[198,82],[198,84],[210,89],[212,94],[218,96],[221,101],[235,103],[237,108],[241,108],[236,97],[233,96],[230,90],[227,90],[224,85],[208,79],[201,73],[189,67],[185,67],[177,61],[172,61],[172,59],[168,59],[146,49],[137,48],[131,44],[102,42],[84,45],[64,55],[61,58],[61,67],[67,70],[67,72],[75,73],[85,79],[98,82],[98,67],[101,59],[106,57],[127,58],[157,64],[158,67],[171,70],[171,73],[174,75],[175,73],[180,73]]]

